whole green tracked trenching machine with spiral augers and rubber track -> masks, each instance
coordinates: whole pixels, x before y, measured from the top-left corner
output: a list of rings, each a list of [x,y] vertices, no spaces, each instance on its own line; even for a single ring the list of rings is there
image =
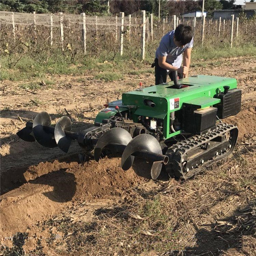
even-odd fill
[[[76,140],[84,154],[96,161],[107,152],[122,154],[121,167],[128,170],[134,157],[152,163],[151,176],[161,170],[172,177],[191,177],[202,166],[232,153],[238,128],[222,122],[241,109],[241,90],[234,78],[197,75],[138,88],[124,93],[122,100],[105,105],[93,127],[71,131],[71,120],[61,117],[51,126],[47,112],[17,132],[25,141],[45,147],[58,146],[68,152]]]

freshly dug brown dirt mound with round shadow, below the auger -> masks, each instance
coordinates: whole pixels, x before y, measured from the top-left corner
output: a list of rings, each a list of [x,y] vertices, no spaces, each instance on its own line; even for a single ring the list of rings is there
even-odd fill
[[[132,169],[123,171],[120,158],[104,158],[99,163],[89,161],[84,166],[74,162],[66,165],[54,161],[31,167],[25,173],[28,180],[48,174],[0,197],[2,242],[4,237],[25,232],[27,227],[35,226],[74,203],[95,198],[115,200],[143,179]]]

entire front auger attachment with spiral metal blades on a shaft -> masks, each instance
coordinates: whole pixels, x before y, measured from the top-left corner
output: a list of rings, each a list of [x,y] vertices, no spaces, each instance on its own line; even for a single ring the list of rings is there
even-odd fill
[[[37,141],[44,147],[58,146],[65,153],[68,152],[71,141],[76,140],[86,151],[94,150],[96,161],[99,161],[104,149],[119,152],[122,153],[123,170],[132,166],[134,157],[140,157],[152,163],[151,177],[157,179],[162,165],[166,165],[169,160],[168,156],[162,154],[157,139],[145,133],[142,126],[136,127],[131,136],[128,130],[118,127],[118,124],[105,120],[104,124],[76,133],[71,131],[71,120],[68,116],[61,117],[53,127],[50,115],[41,112],[33,122],[27,122],[26,127],[18,131],[17,135],[24,141]]]

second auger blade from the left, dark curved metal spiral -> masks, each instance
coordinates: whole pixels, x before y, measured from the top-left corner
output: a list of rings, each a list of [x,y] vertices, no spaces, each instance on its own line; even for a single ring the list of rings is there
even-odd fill
[[[35,140],[44,147],[56,147],[56,141],[52,133],[45,132],[43,126],[51,125],[51,117],[47,112],[40,112],[33,122],[33,134]]]

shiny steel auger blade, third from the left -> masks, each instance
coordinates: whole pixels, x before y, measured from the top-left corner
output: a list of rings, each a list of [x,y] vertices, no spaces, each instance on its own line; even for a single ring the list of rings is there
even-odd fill
[[[65,153],[68,153],[72,139],[66,136],[64,130],[71,131],[71,120],[68,116],[62,116],[54,129],[54,137],[58,147]]]

